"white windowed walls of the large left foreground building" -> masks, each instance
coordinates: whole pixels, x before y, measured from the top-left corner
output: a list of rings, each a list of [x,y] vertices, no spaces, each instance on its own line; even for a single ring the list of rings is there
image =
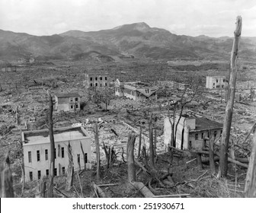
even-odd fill
[[[84,157],[82,155],[80,141],[82,142],[82,147],[87,153],[88,156],[88,164],[84,164]],[[69,165],[69,157],[68,157],[68,145],[72,147],[72,156],[74,162],[75,171],[78,170],[78,160],[77,154],[80,154],[80,165],[81,169],[85,167],[87,169],[91,169],[91,140],[90,138],[83,138],[79,140],[72,141],[57,141],[55,142],[56,148],[56,159],[55,159],[55,168],[57,169],[57,176],[62,175],[62,167],[65,167],[67,170]],[[64,148],[64,157],[62,157],[61,148]],[[48,160],[45,157],[45,150],[48,150]],[[33,180],[37,180],[38,170],[41,172],[41,177],[46,176],[46,170],[50,170],[50,143],[45,144],[24,144],[24,167],[25,167],[25,181],[30,180],[30,172],[33,173]],[[31,151],[31,163],[28,162],[28,151]],[[37,161],[37,151],[40,151],[40,161]],[[59,155],[58,155],[59,153]],[[60,170],[59,170],[60,167]]]

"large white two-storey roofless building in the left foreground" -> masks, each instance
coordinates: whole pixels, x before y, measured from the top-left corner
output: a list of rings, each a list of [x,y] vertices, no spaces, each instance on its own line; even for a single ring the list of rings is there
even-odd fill
[[[53,132],[55,143],[55,176],[66,173],[69,165],[69,143],[72,148],[74,170],[91,169],[91,138],[82,126],[54,129]],[[24,151],[25,181],[40,180],[43,176],[49,176],[49,130],[42,129],[21,132],[21,139]]]

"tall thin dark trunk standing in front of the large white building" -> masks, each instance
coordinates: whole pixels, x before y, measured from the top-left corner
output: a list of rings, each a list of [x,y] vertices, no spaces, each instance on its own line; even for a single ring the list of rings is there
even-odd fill
[[[49,94],[49,135],[50,135],[50,176],[48,186],[48,197],[53,198],[53,178],[55,168],[55,145],[53,137],[53,99]]]

